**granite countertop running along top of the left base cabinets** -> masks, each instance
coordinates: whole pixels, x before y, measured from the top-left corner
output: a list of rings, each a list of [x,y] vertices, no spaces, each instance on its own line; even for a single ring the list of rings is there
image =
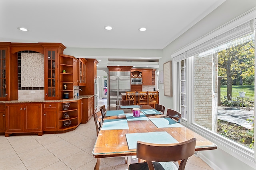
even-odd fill
[[[42,102],[73,102],[80,99],[86,99],[93,97],[94,95],[81,95],[79,97],[74,97],[73,99],[62,99],[62,100],[10,100],[10,101],[0,101],[0,103],[42,103]]]

